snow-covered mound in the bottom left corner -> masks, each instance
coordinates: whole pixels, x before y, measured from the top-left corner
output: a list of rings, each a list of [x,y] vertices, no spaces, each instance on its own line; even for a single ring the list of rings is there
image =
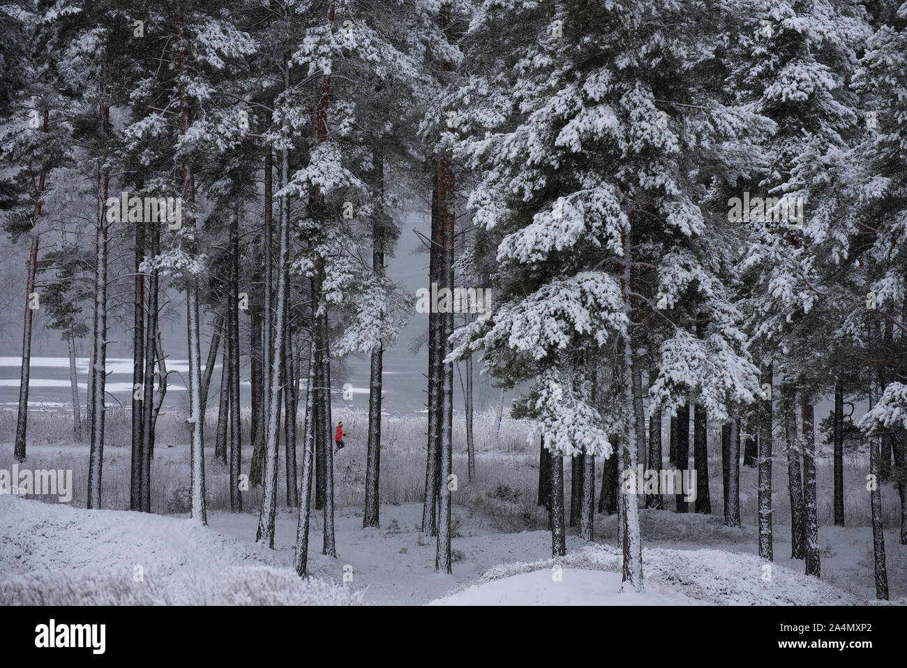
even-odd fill
[[[0,604],[361,604],[191,520],[0,496]]]

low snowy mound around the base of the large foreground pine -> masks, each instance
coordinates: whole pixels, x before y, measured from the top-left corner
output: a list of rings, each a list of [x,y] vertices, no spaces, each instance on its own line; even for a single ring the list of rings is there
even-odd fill
[[[607,545],[589,545],[557,559],[494,566],[476,585],[433,604],[663,605],[689,604],[690,600],[714,605],[863,603],[817,578],[755,555],[722,550],[644,549],[642,561],[646,589],[643,594],[619,594],[619,552]],[[552,580],[557,566],[562,569],[561,582]],[[522,578],[523,575],[532,577]],[[530,591],[520,591],[521,588]],[[619,600],[621,597],[626,602]]]

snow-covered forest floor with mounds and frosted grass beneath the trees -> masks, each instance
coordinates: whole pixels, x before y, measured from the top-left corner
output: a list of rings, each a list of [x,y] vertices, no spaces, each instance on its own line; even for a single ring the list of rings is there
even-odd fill
[[[589,570],[614,572],[617,555],[610,545],[616,544],[616,516],[596,516],[595,544],[590,546],[579,536],[568,536],[568,556],[560,560],[563,565],[563,582],[570,584],[561,589],[551,589],[553,562],[551,534],[547,531],[547,513],[535,505],[538,482],[538,446],[532,440],[531,425],[505,419],[501,437],[494,441],[488,435],[493,431],[490,416],[476,419],[477,479],[466,482],[465,456],[463,454],[463,428],[454,428],[456,451],[454,471],[459,476],[459,490],[454,495],[453,575],[434,573],[434,538],[419,531],[422,506],[420,503],[424,481],[424,417],[388,418],[385,420],[382,449],[381,527],[362,528],[362,487],[365,461],[365,416],[336,411],[336,418],[343,419],[347,447],[335,462],[336,480],[336,548],[338,558],[321,555],[322,514],[313,514],[309,568],[313,575],[338,585],[343,581],[344,566],[352,566],[353,581],[344,590],[339,587],[320,592],[335,603],[356,602],[353,592],[363,592],[363,600],[372,604],[424,604],[444,594],[459,591],[450,603],[476,603],[510,601],[512,603],[571,602],[571,594],[584,595],[585,600],[574,603],[634,604],[632,596],[599,600],[594,594],[600,587],[613,589],[608,579],[598,587],[585,586]],[[30,416],[31,417],[31,416]],[[8,424],[10,417],[0,414],[0,427]],[[121,422],[122,420],[122,422]],[[100,577],[104,571],[110,577],[113,571],[128,569],[130,581],[134,565],[150,563],[151,572],[161,570],[156,557],[149,552],[168,551],[178,556],[161,557],[169,566],[165,574],[182,573],[180,585],[168,585],[155,600],[191,600],[192,602],[246,601],[249,587],[249,568],[254,571],[255,594],[249,601],[268,602],[268,592],[274,592],[274,602],[307,602],[315,595],[289,586],[292,575],[287,567],[292,563],[296,536],[296,510],[278,509],[276,549],[270,551],[254,545],[258,523],[258,493],[246,495],[247,512],[232,514],[227,509],[226,470],[213,458],[213,447],[206,449],[206,480],[208,485],[210,530],[199,529],[204,540],[185,535],[187,523],[181,522],[186,508],[184,491],[189,482],[188,447],[180,439],[184,429],[175,420],[164,417],[159,427],[158,447],[154,458],[152,481],[154,491],[152,506],[156,513],[173,517],[139,516],[133,513],[101,513],[105,522],[120,526],[125,536],[122,540],[112,537],[110,542],[87,522],[82,528],[80,518],[85,511],[66,507],[54,510],[64,516],[38,517],[32,525],[28,518],[35,511],[22,508],[34,506],[32,502],[5,499],[0,507],[0,602],[27,599],[22,589],[23,578],[51,577],[61,573],[69,577]],[[72,506],[84,506],[85,474],[87,473],[87,447],[66,440],[68,427],[64,418],[51,414],[36,414],[30,419],[28,459],[22,467],[72,468],[74,496]],[[105,447],[103,469],[102,506],[125,509],[128,507],[129,461],[128,413],[112,415]],[[214,424],[206,429],[206,443],[212,441]],[[831,515],[831,470],[827,461],[820,461],[818,468],[819,544],[822,554],[823,584],[800,574],[802,562],[791,560],[789,518],[787,503],[786,466],[783,448],[775,457],[775,567],[772,580],[764,580],[763,563],[756,553],[756,493],[755,469],[741,469],[741,516],[744,526],[730,529],[723,525],[721,513],[720,453],[717,450],[717,433],[709,433],[710,487],[712,515],[678,515],[673,502],[667,501],[667,510],[640,512],[646,573],[649,574],[650,596],[635,601],[636,604],[682,604],[686,598],[706,603],[778,603],[778,604],[846,604],[872,601],[873,559],[872,530],[869,526],[869,499],[865,493],[865,466],[862,457],[849,458],[845,466],[846,527],[829,526]],[[0,433],[12,430],[0,428]],[[60,437],[54,437],[62,435]],[[181,442],[180,442],[181,441]],[[248,441],[247,441],[248,442]],[[667,444],[667,438],[665,439]],[[213,443],[210,443],[213,446]],[[9,469],[13,464],[12,444],[0,444],[0,468]],[[243,470],[248,471],[249,452],[244,453]],[[283,448],[281,448],[281,461]],[[716,475],[717,474],[717,475]],[[283,481],[282,470],[279,479]],[[570,490],[570,467],[565,466],[566,489]],[[281,483],[282,486],[282,483]],[[596,493],[600,491],[600,467]],[[281,492],[282,500],[284,493]],[[14,503],[15,506],[9,505]],[[907,545],[899,545],[896,527],[900,522],[897,493],[892,486],[883,486],[884,520],[886,526],[886,555],[892,602],[907,603]],[[568,496],[569,505],[569,496]],[[6,512],[11,509],[16,512]],[[50,510],[49,508],[47,509]],[[23,515],[24,514],[24,518]],[[74,515],[71,515],[74,514]],[[91,511],[92,516],[98,513]],[[145,526],[151,522],[153,526]],[[18,523],[18,524],[17,524]],[[62,523],[66,531],[46,531],[42,527]],[[153,524],[157,523],[157,524]],[[172,523],[172,526],[168,523]],[[22,524],[24,526],[18,526]],[[31,530],[27,527],[31,526]],[[171,528],[168,528],[171,527]],[[132,530],[136,534],[149,534],[152,540],[130,542]],[[174,535],[163,540],[164,535]],[[194,534],[193,534],[194,535]],[[235,536],[235,537],[234,537]],[[156,538],[161,546],[153,540]],[[201,541],[201,547],[196,544]],[[206,542],[208,541],[208,542]],[[173,543],[176,543],[174,547]],[[191,549],[189,546],[192,545]],[[207,545],[207,547],[206,547]],[[230,545],[226,549],[224,545]],[[661,548],[661,549],[658,549]],[[218,554],[210,564],[205,553]],[[226,551],[225,551],[226,550]],[[185,554],[183,554],[185,553]],[[192,554],[199,553],[199,554]],[[52,555],[48,557],[47,555]],[[73,555],[76,555],[73,557]],[[78,555],[84,555],[80,561]],[[168,561],[169,560],[169,561]],[[531,562],[532,565],[527,565]],[[500,566],[504,565],[504,566]],[[229,571],[242,566],[239,571]],[[276,568],[268,569],[268,566]],[[780,566],[780,567],[779,567]],[[190,575],[186,575],[187,568]],[[169,569],[169,570],[168,570]],[[199,573],[196,573],[199,569]],[[211,574],[228,569],[232,581],[239,585],[223,590],[210,585]],[[526,575],[530,571],[546,570],[542,575]],[[44,575],[41,575],[41,574]],[[78,575],[73,575],[78,574]],[[86,575],[93,574],[93,575]],[[199,575],[201,574],[201,575]],[[242,574],[242,575],[237,575]],[[489,575],[491,574],[491,575]],[[672,575],[673,574],[673,575]],[[122,575],[122,574],[121,574]],[[188,581],[185,581],[189,578]],[[512,578],[512,586],[492,580]],[[544,586],[541,580],[544,580]],[[612,578],[613,579],[613,578]],[[482,585],[481,582],[485,584]],[[539,585],[532,591],[535,598],[521,598],[526,582]],[[37,582],[37,581],[36,581]],[[93,580],[92,580],[93,582]],[[119,581],[118,581],[119,582]],[[189,584],[186,584],[189,582]],[[261,583],[264,584],[261,584]],[[479,590],[471,587],[480,582]],[[599,582],[599,581],[596,581]],[[208,584],[205,584],[208,583]],[[562,583],[558,583],[562,584]],[[619,583],[618,583],[619,584]],[[825,585],[833,586],[825,586]],[[15,585],[15,586],[14,586]],[[13,587],[13,589],[10,589]],[[16,588],[18,587],[18,588]],[[77,585],[73,585],[77,587]],[[175,588],[174,588],[175,587]],[[94,589],[98,583],[94,583]],[[141,602],[151,588],[128,588],[126,600]],[[549,591],[554,598],[545,592]],[[29,590],[34,591],[34,590]],[[70,588],[68,591],[72,591]],[[609,589],[610,591],[610,589]],[[145,594],[136,594],[144,592]],[[191,593],[187,599],[186,592]],[[288,594],[287,592],[295,592]],[[514,592],[516,594],[514,594]],[[586,594],[583,594],[585,592]],[[712,594],[708,594],[711,592]],[[319,595],[320,595],[319,594]],[[594,595],[593,595],[594,594]],[[708,595],[707,595],[708,594]],[[73,594],[76,595],[76,594]],[[251,594],[249,594],[251,595]],[[516,598],[514,598],[516,595]],[[163,597],[161,599],[161,597]],[[247,596],[248,598],[248,596]],[[594,599],[594,600],[593,600]]]

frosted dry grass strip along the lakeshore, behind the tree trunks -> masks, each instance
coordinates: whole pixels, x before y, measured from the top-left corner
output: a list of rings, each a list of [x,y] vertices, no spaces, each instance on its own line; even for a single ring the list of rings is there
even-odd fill
[[[338,409],[334,420],[342,419],[346,431],[346,447],[335,457],[336,506],[361,506],[364,503],[367,416],[364,412]],[[243,471],[249,471],[249,415],[243,420]],[[667,426],[667,421],[666,421]],[[208,507],[229,509],[229,470],[214,458],[216,418],[209,418],[205,427],[205,463]],[[381,490],[382,503],[402,504],[423,498],[425,476],[425,417],[385,417],[382,421]],[[467,479],[465,425],[463,417],[454,418],[453,472],[458,478],[455,503],[481,510],[502,530],[543,529],[547,513],[535,504],[538,486],[538,446],[532,437],[530,423],[505,418],[500,437],[493,434],[493,415],[477,415],[474,420],[477,476]],[[0,434],[15,433],[15,411],[0,411]],[[88,447],[73,444],[68,422],[59,413],[34,412],[29,416],[29,457],[24,466],[30,468],[72,468],[73,505],[84,506],[87,494]],[[130,486],[131,420],[128,410],[111,408],[107,417],[104,448],[102,506],[128,508]],[[717,429],[709,430],[709,486],[712,514],[721,515],[721,455]],[[152,510],[167,513],[179,508],[174,498],[189,486],[189,429],[176,413],[161,415],[157,427],[157,444],[151,471]],[[668,435],[663,435],[667,450]],[[12,466],[12,444],[0,447],[0,468]],[[284,447],[280,447],[278,480],[285,500]],[[666,452],[667,459],[667,452]],[[847,526],[869,526],[869,494],[865,489],[867,463],[864,457],[848,457],[844,462],[844,507]],[[301,463],[301,447],[297,448]],[[690,459],[692,466],[692,458]],[[570,466],[565,462],[565,486],[570,494]],[[820,525],[833,522],[832,464],[827,458],[817,460],[818,511]],[[598,465],[596,494],[601,485],[601,466]],[[785,451],[775,445],[773,470],[775,525],[790,523],[790,503],[787,495]],[[259,489],[244,494],[244,506],[258,508]],[[883,521],[886,527],[899,526],[901,511],[897,491],[883,486]],[[746,524],[756,524],[756,469],[742,467],[740,477],[740,512]],[[666,499],[673,509],[673,501]]]

